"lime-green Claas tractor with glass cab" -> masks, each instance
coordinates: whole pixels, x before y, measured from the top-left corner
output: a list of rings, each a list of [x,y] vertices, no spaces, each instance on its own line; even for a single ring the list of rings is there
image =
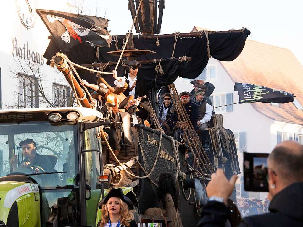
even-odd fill
[[[0,122],[0,226],[96,226],[108,191],[102,114],[83,107],[1,110]],[[22,164],[26,139],[48,157],[48,170]],[[133,189],[122,189],[136,204]]]

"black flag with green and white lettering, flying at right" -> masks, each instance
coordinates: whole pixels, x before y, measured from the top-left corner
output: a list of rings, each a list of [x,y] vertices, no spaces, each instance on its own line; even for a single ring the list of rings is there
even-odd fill
[[[239,94],[239,103],[289,103],[294,101],[294,94],[256,84],[235,84]]]

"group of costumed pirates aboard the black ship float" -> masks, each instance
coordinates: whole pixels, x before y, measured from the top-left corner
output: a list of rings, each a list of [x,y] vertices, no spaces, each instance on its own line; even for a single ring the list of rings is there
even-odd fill
[[[104,116],[113,120],[116,113],[127,112],[130,115],[131,126],[141,123],[153,128],[155,126],[150,118],[153,113],[153,105],[148,104],[151,91],[146,89],[146,81],[138,74],[141,64],[138,61],[125,61],[125,65],[128,66],[127,77],[118,77],[117,72],[113,71],[115,87],[110,86],[102,77],[98,78],[97,84],[90,84],[85,80],[81,80],[80,83],[82,86],[93,90],[90,99],[92,108],[102,112]],[[211,95],[215,87],[203,80],[191,81],[191,83],[194,85],[193,89],[190,92],[181,92],[179,98],[195,131],[200,132],[209,126],[213,107],[208,96]],[[167,90],[167,88],[164,90]],[[159,108],[156,109],[159,111],[154,116],[158,117],[165,134],[173,136],[178,142],[184,143],[185,122],[184,119],[178,119],[178,114],[172,103],[171,93],[169,91],[163,94],[159,93],[158,104]],[[107,127],[105,133],[108,134],[109,144],[115,156],[118,156],[120,145],[115,125]],[[191,154],[186,154],[186,156],[192,159]],[[115,164],[112,153],[108,151],[104,152],[103,161],[104,164]],[[192,161],[189,160],[189,162]]]

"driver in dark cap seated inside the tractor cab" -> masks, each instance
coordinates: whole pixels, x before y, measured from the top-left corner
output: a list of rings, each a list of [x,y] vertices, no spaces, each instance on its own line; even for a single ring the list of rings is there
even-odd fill
[[[22,154],[25,157],[24,160],[20,163],[20,168],[26,168],[28,164],[36,165],[45,170],[45,172],[52,171],[52,163],[48,157],[38,154],[36,142],[33,139],[25,139],[19,143],[19,146],[22,146]],[[18,157],[14,155],[10,160],[12,163],[13,171],[17,169]],[[38,168],[37,168],[38,169]]]

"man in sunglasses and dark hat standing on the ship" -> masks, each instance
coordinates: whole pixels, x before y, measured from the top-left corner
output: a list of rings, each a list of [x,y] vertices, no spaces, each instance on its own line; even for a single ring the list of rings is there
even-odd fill
[[[169,129],[171,131],[171,133],[173,134],[173,128],[176,125],[176,112],[173,109],[173,105],[171,103],[171,94],[170,93],[165,93],[163,95],[161,95],[161,98],[163,99],[163,103],[160,106],[160,110],[159,110],[159,120],[161,122],[161,126],[163,128],[163,130],[165,131],[166,135],[169,135],[167,126],[165,127],[164,124],[162,122],[165,122],[168,126]]]

